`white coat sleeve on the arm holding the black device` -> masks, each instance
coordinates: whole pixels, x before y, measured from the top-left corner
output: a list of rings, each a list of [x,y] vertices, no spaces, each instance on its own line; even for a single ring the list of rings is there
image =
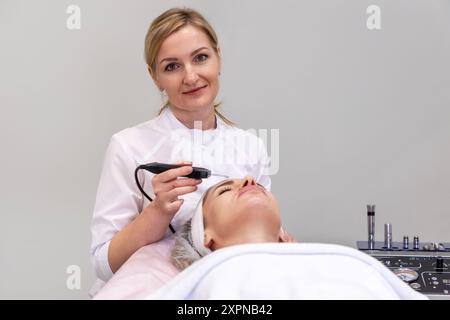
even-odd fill
[[[91,225],[91,262],[97,277],[103,281],[113,275],[108,263],[111,239],[142,211],[143,206],[134,181],[137,163],[120,138],[113,135],[106,150]]]

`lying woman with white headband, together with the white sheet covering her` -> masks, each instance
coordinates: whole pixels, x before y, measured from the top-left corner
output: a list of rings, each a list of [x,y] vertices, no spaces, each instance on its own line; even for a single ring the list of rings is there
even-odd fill
[[[211,187],[177,235],[183,270],[150,299],[427,299],[375,258],[340,245],[280,243],[275,197],[255,181]]]

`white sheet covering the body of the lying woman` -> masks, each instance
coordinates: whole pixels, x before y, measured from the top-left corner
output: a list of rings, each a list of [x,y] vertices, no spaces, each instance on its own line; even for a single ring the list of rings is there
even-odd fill
[[[350,247],[246,244],[217,250],[148,299],[427,299]]]

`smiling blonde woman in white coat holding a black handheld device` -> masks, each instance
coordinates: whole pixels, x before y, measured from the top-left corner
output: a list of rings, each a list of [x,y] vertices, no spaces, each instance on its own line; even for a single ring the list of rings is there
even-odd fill
[[[155,118],[110,140],[91,226],[90,253],[99,278],[93,291],[139,248],[170,236],[169,225],[179,230],[203,192],[223,179],[183,178],[192,165],[228,177],[251,175],[270,189],[264,144],[218,110],[222,58],[205,18],[191,9],[162,13],[145,37],[145,61],[165,101]],[[139,173],[152,202],[133,178],[136,167],[149,162],[183,164],[157,175]]]

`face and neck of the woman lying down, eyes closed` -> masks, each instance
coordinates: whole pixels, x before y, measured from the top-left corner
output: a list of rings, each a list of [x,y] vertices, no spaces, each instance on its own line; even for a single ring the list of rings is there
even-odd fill
[[[275,197],[253,178],[226,180],[203,202],[205,245],[212,250],[258,242],[278,242],[280,213]]]

